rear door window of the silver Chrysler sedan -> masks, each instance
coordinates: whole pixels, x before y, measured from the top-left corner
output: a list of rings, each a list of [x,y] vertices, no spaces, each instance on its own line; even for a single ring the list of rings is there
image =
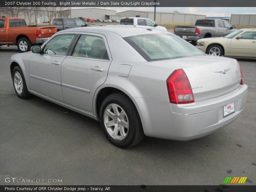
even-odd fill
[[[80,36],[72,56],[109,60],[104,39],[92,35]]]

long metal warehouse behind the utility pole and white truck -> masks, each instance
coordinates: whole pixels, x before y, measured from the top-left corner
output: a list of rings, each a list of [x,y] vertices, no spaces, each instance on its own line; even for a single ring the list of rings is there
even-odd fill
[[[146,11],[123,11],[116,15],[121,17],[144,17],[154,20],[154,12]],[[205,15],[196,15],[179,12],[156,12],[156,22],[160,23],[195,23],[197,19],[203,19]]]

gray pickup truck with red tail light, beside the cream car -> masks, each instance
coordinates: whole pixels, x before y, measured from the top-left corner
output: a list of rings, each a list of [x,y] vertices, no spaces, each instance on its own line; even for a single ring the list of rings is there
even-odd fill
[[[222,37],[237,30],[236,26],[222,19],[198,19],[195,26],[175,26],[173,33],[196,44],[198,39],[208,37]]]

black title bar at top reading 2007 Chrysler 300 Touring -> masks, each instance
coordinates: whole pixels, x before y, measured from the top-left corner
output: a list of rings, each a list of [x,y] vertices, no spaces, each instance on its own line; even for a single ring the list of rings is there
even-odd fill
[[[256,7],[256,0],[0,0],[0,7]]]

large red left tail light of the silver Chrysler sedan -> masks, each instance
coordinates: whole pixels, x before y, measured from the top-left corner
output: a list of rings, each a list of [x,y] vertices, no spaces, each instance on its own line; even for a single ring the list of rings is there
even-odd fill
[[[194,95],[188,77],[183,69],[176,69],[166,79],[170,103],[193,103]]]

